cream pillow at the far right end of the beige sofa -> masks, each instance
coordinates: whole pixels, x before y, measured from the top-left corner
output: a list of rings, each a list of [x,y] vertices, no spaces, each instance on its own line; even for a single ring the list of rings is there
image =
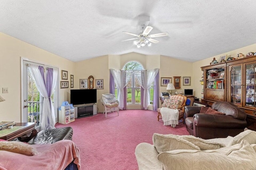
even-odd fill
[[[239,133],[238,135],[233,137],[233,140],[230,141],[229,146],[235,145],[237,143],[241,143],[242,140],[248,141],[250,145],[256,144],[256,131],[252,131],[248,129],[246,131]]]

